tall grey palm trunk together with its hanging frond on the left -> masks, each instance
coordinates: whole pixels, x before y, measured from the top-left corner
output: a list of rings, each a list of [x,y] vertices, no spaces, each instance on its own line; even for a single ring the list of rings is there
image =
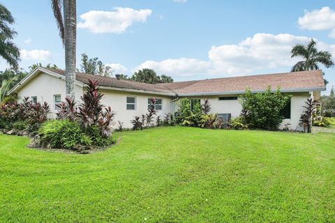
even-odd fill
[[[75,100],[75,44],[77,15],[75,0],[63,0],[64,18],[61,15],[61,0],[51,0],[52,10],[65,48],[66,98]]]

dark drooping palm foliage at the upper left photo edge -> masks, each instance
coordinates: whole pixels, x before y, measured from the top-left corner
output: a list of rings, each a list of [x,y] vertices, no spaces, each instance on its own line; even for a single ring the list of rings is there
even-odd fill
[[[0,56],[17,70],[20,61],[20,50],[12,42],[16,32],[9,27],[15,20],[10,11],[0,3]]]

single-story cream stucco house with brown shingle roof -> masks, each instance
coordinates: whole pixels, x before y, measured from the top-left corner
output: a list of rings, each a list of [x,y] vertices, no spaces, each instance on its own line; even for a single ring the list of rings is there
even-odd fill
[[[167,84],[146,84],[77,72],[76,100],[80,100],[84,85],[89,82],[89,79],[98,81],[101,92],[104,94],[103,104],[112,107],[112,110],[117,113],[115,121],[123,122],[125,128],[131,128],[131,120],[134,116],[147,112],[151,97],[157,99],[157,114],[162,118],[165,114],[177,112],[178,100],[181,98],[200,101],[209,98],[211,113],[217,113],[228,119],[239,116],[241,112],[239,98],[247,88],[250,88],[253,93],[258,93],[265,91],[268,86],[274,90],[280,86],[281,92],[292,95],[281,128],[290,123],[292,130],[299,130],[299,118],[304,111],[306,100],[309,97],[319,100],[320,92],[325,91],[321,70],[223,77]],[[56,114],[57,105],[64,101],[66,95],[64,70],[36,68],[10,93],[17,93],[19,100],[29,96],[33,101],[47,102],[51,105],[51,112]]]

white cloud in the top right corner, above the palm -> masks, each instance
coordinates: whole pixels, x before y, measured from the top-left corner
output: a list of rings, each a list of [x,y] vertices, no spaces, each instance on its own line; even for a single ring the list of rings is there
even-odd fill
[[[332,30],[329,37],[335,38],[335,11],[329,7],[311,12],[305,11],[303,17],[299,17],[299,27],[308,30]]]

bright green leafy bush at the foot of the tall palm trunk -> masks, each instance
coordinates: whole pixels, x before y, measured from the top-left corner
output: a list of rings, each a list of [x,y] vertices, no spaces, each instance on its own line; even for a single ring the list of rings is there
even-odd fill
[[[51,148],[75,148],[92,144],[91,139],[82,132],[79,123],[68,120],[47,121],[38,133],[42,141],[50,143]]]

